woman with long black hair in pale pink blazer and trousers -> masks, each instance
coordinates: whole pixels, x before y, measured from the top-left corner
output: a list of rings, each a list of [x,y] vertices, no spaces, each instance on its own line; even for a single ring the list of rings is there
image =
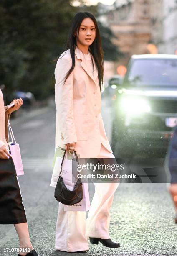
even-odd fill
[[[103,52],[96,19],[77,13],[70,29],[67,51],[55,69],[56,147],[76,150],[80,158],[114,158],[101,117]],[[109,208],[118,184],[94,184],[95,194],[86,212],[65,212],[59,203],[56,250],[87,251],[88,241],[119,247],[109,236]]]

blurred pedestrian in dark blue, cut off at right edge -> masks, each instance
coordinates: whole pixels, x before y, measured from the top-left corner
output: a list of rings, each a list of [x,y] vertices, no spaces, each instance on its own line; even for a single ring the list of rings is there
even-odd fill
[[[174,221],[177,223],[177,126],[174,128],[174,135],[169,145],[168,168],[171,174],[171,185],[169,186],[169,192],[172,196],[176,210]]]

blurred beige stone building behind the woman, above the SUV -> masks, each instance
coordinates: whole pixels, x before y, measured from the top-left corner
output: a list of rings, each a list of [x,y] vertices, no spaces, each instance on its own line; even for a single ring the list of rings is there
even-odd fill
[[[117,0],[112,10],[102,14],[116,35],[114,43],[124,53],[122,64],[126,64],[132,54],[147,53],[151,39],[150,0]]]

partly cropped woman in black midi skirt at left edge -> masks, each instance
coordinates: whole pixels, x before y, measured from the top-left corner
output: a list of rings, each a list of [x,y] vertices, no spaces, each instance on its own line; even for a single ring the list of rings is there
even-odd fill
[[[21,98],[13,102],[15,104],[13,108],[4,106],[0,89],[0,224],[14,224],[20,240],[20,248],[24,250],[24,253],[22,251],[18,255],[38,256],[30,242],[18,179],[8,147],[8,118],[23,105]],[[27,250],[30,250],[30,253],[25,251],[25,248],[29,248]]]

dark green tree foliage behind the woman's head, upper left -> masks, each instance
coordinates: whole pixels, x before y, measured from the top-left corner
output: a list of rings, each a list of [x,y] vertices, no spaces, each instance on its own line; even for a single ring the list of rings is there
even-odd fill
[[[52,60],[65,49],[78,10],[69,0],[0,1],[0,84],[8,93],[30,91],[42,99],[53,92],[56,62]],[[115,60],[113,35],[101,23],[99,27],[105,59]]]

